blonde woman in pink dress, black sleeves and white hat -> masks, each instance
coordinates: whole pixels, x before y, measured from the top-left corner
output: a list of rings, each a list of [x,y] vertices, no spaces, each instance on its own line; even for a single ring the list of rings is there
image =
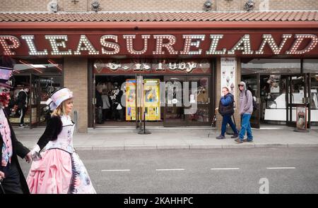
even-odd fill
[[[73,149],[74,123],[69,116],[72,98],[72,92],[62,88],[47,101],[53,113],[45,132],[31,150],[33,164],[27,178],[30,193],[96,193],[83,162]]]

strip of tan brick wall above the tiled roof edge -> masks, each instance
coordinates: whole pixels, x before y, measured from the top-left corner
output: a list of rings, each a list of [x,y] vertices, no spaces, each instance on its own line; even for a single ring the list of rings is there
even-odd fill
[[[0,11],[48,11],[54,0],[0,0]],[[93,0],[57,0],[60,11],[91,11]],[[206,0],[99,0],[101,11],[202,11]],[[212,0],[213,11],[243,11],[247,0]],[[318,10],[318,0],[254,0],[254,11]]]

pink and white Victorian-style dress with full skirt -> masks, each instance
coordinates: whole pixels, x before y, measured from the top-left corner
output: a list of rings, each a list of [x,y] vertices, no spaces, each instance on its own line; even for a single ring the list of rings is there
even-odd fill
[[[69,116],[61,116],[61,122],[57,140],[49,141],[40,153],[42,159],[31,165],[27,178],[30,193],[95,194],[88,172],[73,149],[74,123]]]

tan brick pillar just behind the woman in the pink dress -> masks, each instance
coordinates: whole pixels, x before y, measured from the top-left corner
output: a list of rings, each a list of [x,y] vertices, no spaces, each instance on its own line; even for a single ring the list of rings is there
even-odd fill
[[[78,111],[78,130],[87,133],[88,128],[88,71],[87,59],[64,59],[64,86],[73,92],[73,110]]]

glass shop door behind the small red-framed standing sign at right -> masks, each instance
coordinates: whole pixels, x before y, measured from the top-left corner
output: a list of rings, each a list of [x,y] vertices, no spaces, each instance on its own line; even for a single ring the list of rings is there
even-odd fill
[[[310,74],[288,75],[286,94],[286,123],[288,126],[296,126],[297,108],[304,106],[307,108],[307,121],[310,115]],[[307,123],[310,128],[310,122]]]

